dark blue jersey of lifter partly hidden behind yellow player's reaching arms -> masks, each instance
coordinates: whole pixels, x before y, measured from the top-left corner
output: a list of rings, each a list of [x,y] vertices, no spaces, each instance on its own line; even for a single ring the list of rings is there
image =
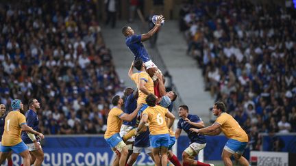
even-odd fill
[[[134,94],[130,94],[129,96],[127,96],[127,98],[125,99],[125,109],[124,112],[125,113],[132,113],[134,112],[134,110],[136,109],[136,98],[134,98]],[[129,126],[135,126],[136,125],[136,117],[134,117],[134,120],[132,120],[131,122],[123,122],[123,124],[125,125],[129,125]]]

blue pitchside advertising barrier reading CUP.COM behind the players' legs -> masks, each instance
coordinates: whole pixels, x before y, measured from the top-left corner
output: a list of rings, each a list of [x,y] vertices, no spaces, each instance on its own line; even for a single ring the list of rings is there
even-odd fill
[[[286,152],[279,156],[280,158],[269,158],[269,160],[281,161],[284,165],[286,156],[288,155],[288,162],[292,165],[295,163],[295,148],[296,137],[294,134],[290,135],[275,135],[280,137],[284,142],[282,152]],[[269,135],[263,135],[262,150],[271,150],[270,146],[273,143],[267,143],[267,140],[273,139]],[[218,135],[215,137],[206,136],[207,145],[204,148],[204,161],[221,161],[221,152],[228,140],[224,135]],[[111,165],[115,154],[112,152],[107,142],[103,138],[103,135],[46,135],[45,140],[41,141],[42,149],[45,152],[45,159],[42,165]],[[189,146],[189,139],[187,135],[181,135],[175,146],[173,146],[173,152],[177,154],[177,157],[182,161],[182,152]],[[251,152],[251,156],[264,156],[267,152]],[[249,148],[245,150],[245,156],[249,160],[250,151]],[[269,154],[268,154],[269,155]],[[266,156],[266,155],[265,155]],[[271,156],[271,155],[269,155]],[[257,163],[263,162],[257,157]],[[199,158],[200,159],[200,158]],[[23,160],[21,156],[12,154],[12,160],[14,165],[21,165]],[[251,160],[250,160],[251,161]],[[255,161],[255,158],[253,158]],[[5,161],[6,162],[6,161]],[[267,158],[264,162],[268,162]],[[153,161],[149,156],[143,152],[138,157],[136,165],[153,165]],[[289,164],[291,165],[291,164]]]

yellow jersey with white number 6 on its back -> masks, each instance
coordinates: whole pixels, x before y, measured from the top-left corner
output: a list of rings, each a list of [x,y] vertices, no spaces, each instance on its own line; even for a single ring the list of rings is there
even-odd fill
[[[156,105],[155,107],[147,107],[143,111],[143,115],[148,115],[149,131],[151,135],[169,134],[169,128],[165,122],[165,115],[169,110]]]

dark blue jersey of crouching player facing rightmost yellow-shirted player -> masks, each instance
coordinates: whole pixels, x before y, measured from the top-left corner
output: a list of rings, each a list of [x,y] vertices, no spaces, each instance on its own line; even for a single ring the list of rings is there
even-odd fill
[[[187,118],[191,122],[195,122],[195,123],[201,121],[201,119],[197,115],[188,114]],[[177,124],[177,128],[183,129],[187,133],[187,135],[190,139],[190,143],[193,143],[193,142],[206,143],[206,138],[204,137],[204,135],[197,135],[197,133],[190,132],[190,130],[189,130],[190,128],[197,128],[197,127],[195,127],[191,124],[188,124],[182,118],[179,120],[179,122]]]

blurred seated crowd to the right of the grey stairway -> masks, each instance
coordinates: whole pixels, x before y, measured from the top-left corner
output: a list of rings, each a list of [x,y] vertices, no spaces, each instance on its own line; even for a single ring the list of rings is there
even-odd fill
[[[184,3],[180,30],[206,89],[260,150],[258,133],[296,132],[296,10],[250,1]]]

